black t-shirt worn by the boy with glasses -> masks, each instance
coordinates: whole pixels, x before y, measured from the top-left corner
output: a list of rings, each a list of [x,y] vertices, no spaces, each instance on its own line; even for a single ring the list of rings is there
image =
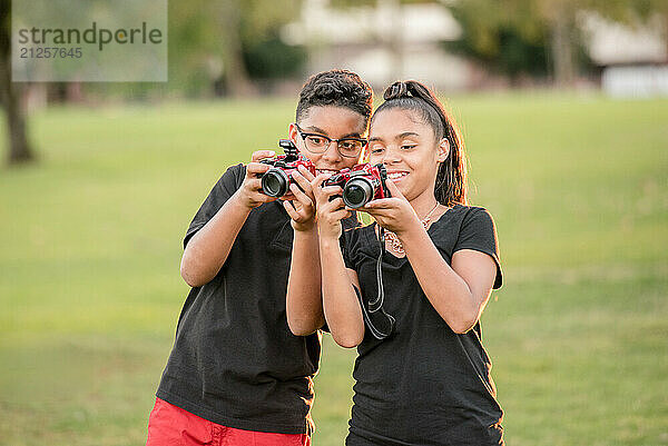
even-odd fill
[[[184,239],[240,187],[230,167]],[[246,430],[303,434],[312,426],[321,334],[294,336],[285,315],[293,229],[279,201],[250,211],[220,271],[193,288],[157,396],[195,415]]]

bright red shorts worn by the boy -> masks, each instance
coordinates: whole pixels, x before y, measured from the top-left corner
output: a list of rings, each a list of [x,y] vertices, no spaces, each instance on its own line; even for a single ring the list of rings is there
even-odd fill
[[[160,398],[148,417],[146,446],[311,446],[306,434],[242,430],[193,415]]]

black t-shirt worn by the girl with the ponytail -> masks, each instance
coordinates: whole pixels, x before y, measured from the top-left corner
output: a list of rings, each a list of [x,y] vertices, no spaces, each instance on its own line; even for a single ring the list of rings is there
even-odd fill
[[[381,245],[375,224],[344,232],[344,259],[357,271],[365,305],[377,296]],[[490,255],[502,276],[494,224],[483,208],[455,206],[429,228],[448,264],[460,249]],[[357,347],[347,445],[502,445],[503,413],[481,343],[480,323],[464,335],[448,326],[422,291],[407,258],[385,252],[383,309],[395,318],[390,337],[365,330]],[[376,313],[377,315],[379,313]]]

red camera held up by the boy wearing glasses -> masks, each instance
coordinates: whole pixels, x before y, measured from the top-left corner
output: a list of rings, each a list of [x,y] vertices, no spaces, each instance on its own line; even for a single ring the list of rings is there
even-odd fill
[[[272,166],[262,176],[262,191],[269,197],[283,197],[289,191],[289,185],[294,181],[292,175],[297,171],[297,167],[299,166],[304,166],[306,170],[315,175],[315,166],[299,153],[293,141],[281,139],[278,146],[285,155],[259,161]]]

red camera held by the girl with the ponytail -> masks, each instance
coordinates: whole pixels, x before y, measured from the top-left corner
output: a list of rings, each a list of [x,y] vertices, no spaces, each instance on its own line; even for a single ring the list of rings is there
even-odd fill
[[[352,169],[342,169],[330,177],[323,186],[341,186],[343,188],[341,197],[345,206],[357,209],[371,200],[390,197],[385,186],[386,179],[385,166],[363,163]]]

